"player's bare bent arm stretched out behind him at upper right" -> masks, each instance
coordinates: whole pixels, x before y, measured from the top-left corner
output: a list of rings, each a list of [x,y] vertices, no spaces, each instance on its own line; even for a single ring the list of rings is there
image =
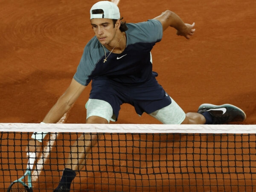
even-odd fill
[[[188,24],[184,23],[183,20],[174,12],[166,10],[161,15],[154,18],[159,20],[162,23],[163,31],[166,30],[169,26],[177,29],[177,35],[184,36],[189,39],[195,32],[194,26],[195,23]]]

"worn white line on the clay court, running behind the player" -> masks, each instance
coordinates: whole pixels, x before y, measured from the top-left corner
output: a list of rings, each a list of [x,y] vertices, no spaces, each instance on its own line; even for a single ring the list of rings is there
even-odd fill
[[[111,2],[115,3],[118,5],[120,0],[111,0]],[[68,113],[68,112],[67,112]],[[64,114],[64,116],[61,117],[61,119],[58,121],[58,123],[65,123],[67,119],[67,113]],[[40,157],[38,157],[37,163],[36,163],[36,170],[32,172],[32,181],[36,182],[38,181],[38,176],[41,174],[41,170],[44,168],[44,163],[46,160],[49,159],[50,157],[50,151],[51,147],[50,146],[55,146],[56,142],[55,139],[58,137],[58,134],[50,134],[49,141],[47,145],[43,149],[43,153],[41,153]]]

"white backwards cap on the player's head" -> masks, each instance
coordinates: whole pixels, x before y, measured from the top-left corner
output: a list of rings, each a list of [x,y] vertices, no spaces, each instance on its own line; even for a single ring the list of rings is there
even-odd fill
[[[102,9],[103,14],[93,14],[94,9]],[[90,19],[107,18],[107,19],[120,19],[120,12],[118,6],[110,1],[99,1],[95,3],[90,9]]]

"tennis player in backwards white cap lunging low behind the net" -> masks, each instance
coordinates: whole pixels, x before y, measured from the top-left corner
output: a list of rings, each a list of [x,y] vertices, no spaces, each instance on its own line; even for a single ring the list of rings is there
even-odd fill
[[[116,4],[100,1],[90,9],[90,24],[95,36],[84,48],[70,86],[47,113],[44,123],[58,122],[90,81],[87,123],[116,121],[123,103],[133,105],[137,114],[148,113],[163,124],[223,124],[246,118],[241,109],[230,104],[203,104],[198,113],[185,113],[158,84],[157,73],[152,71],[151,49],[161,41],[163,31],[169,26],[177,30],[177,35],[191,38],[195,23],[184,23],[169,10],[142,23],[125,23]],[[83,134],[74,143],[54,192],[70,191],[76,173],[85,165],[89,146],[95,145],[98,137],[98,134]]]

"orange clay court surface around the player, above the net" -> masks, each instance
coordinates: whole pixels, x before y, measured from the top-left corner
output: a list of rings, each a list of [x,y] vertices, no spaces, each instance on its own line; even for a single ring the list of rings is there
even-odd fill
[[[93,37],[89,11],[96,0],[0,0],[0,122],[41,122],[66,90],[84,46]],[[254,0],[120,0],[128,23],[166,9],[195,22],[186,40],[167,29],[152,50],[153,70],[185,112],[202,103],[230,103],[256,124],[256,3]],[[84,123],[88,86],[66,123]],[[130,105],[117,123],[158,124]],[[22,130],[21,130],[22,131]],[[84,130],[85,132],[87,130]]]

